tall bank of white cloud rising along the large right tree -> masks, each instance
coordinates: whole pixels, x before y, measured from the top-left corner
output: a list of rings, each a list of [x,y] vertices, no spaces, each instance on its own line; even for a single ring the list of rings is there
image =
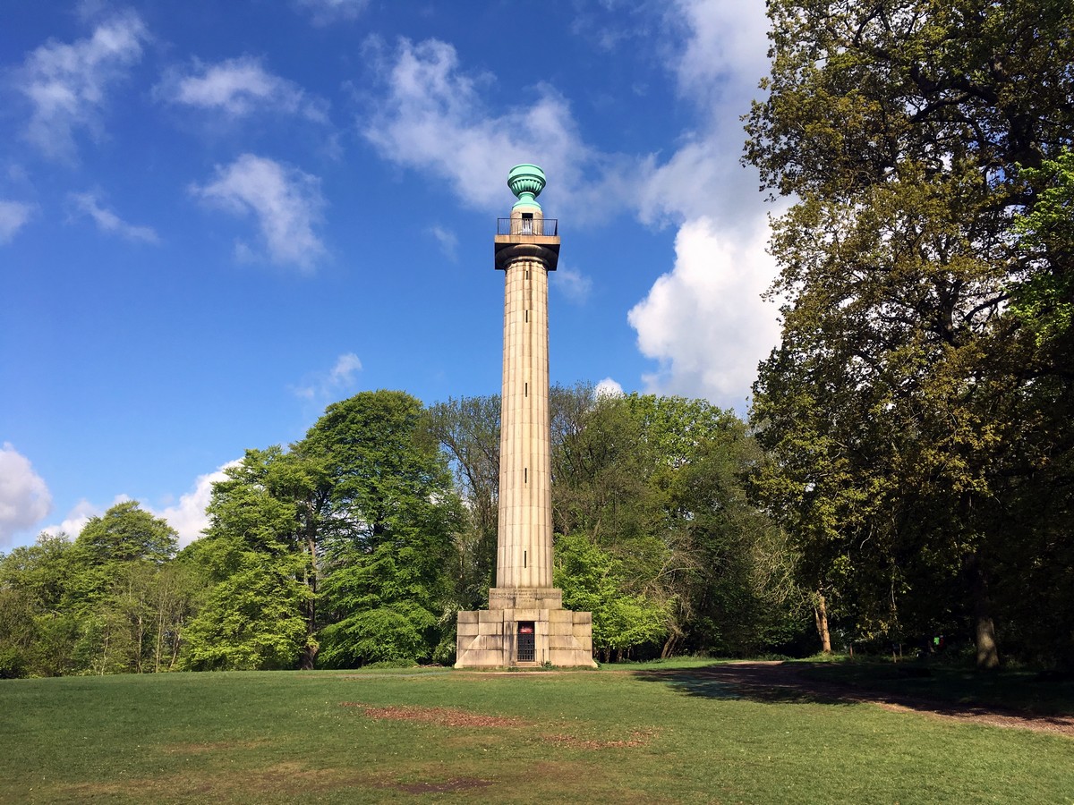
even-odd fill
[[[703,396],[744,409],[757,363],[779,340],[778,311],[760,294],[775,276],[756,174],[739,164],[757,83],[768,71],[764,6],[677,0],[667,68],[699,111],[666,160],[650,161],[639,218],[674,221],[673,268],[628,313],[638,348],[658,363],[649,391]]]

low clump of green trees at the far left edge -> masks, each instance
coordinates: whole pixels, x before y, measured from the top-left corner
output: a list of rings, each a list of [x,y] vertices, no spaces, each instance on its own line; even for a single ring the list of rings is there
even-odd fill
[[[74,542],[42,535],[0,559],[0,654],[28,676],[174,668],[191,589],[175,531],[118,503]]]

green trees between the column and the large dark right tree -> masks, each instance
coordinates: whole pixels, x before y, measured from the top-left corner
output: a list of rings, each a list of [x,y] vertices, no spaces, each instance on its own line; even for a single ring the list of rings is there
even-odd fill
[[[562,565],[557,583],[600,602],[608,613],[606,647],[620,652],[653,641],[648,625],[628,625],[649,624],[653,612],[664,613],[664,655],[744,655],[800,629],[793,555],[746,498],[745,474],[764,456],[740,420],[705,400],[595,399],[584,386],[557,390],[553,401],[555,527],[571,535],[568,552],[584,536],[608,557],[616,594],[601,599],[587,575],[600,567],[592,561],[601,554]],[[607,592],[607,579],[603,584]],[[613,616],[612,601],[621,603],[620,615]],[[630,638],[612,642],[612,634]]]

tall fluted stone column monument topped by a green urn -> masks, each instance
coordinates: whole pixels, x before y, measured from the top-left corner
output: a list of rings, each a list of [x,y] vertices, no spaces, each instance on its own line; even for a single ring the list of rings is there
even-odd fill
[[[495,237],[504,272],[496,586],[488,610],[459,613],[455,668],[594,668],[592,615],[563,609],[552,586],[548,273],[560,259],[557,221],[537,203],[537,165],[512,167],[507,186],[518,201]]]

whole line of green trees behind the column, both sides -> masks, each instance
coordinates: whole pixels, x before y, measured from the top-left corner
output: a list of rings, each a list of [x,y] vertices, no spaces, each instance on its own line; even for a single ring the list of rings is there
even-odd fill
[[[605,660],[749,655],[801,631],[782,532],[746,499],[761,460],[702,400],[556,387],[555,583]],[[249,450],[182,552],[133,501],[0,558],[0,674],[451,662],[494,584],[499,399],[402,392],[329,406]]]

